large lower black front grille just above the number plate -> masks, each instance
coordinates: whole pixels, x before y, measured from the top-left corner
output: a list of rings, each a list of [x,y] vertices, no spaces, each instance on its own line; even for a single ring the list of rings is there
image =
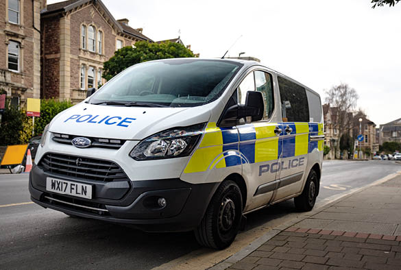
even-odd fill
[[[112,182],[114,179],[127,178],[119,165],[108,160],[84,158],[64,154],[48,153],[42,157],[39,167],[49,173],[66,175],[79,179]]]

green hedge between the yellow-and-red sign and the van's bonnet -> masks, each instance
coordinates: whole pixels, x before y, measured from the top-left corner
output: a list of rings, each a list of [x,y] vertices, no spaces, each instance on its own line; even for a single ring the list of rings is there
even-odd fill
[[[54,116],[73,106],[71,101],[58,101],[57,99],[42,99],[40,101],[40,117],[35,119],[35,136],[42,134],[46,125]]]

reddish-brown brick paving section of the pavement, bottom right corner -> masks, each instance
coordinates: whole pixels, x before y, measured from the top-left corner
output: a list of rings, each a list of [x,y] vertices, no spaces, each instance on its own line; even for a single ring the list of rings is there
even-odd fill
[[[280,232],[229,269],[401,269],[401,236],[300,231]]]

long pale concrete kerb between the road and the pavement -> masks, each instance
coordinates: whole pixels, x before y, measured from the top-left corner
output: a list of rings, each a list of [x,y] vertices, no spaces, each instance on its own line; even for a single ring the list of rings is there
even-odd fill
[[[400,162],[400,164],[401,164],[401,162]],[[226,260],[223,260],[223,261],[217,263],[217,265],[214,265],[213,267],[208,268],[208,270],[225,270],[228,267],[234,265],[236,262],[239,262],[240,260],[242,260],[243,258],[248,256],[249,254],[251,254],[253,251],[258,249],[258,247],[260,247],[261,245],[263,245],[264,243],[269,241],[271,238],[273,238],[280,232],[287,230],[288,228],[292,227],[296,223],[299,223],[300,221],[303,221],[304,219],[308,219],[308,217],[311,217],[311,216],[329,208],[330,206],[337,204],[339,201],[343,201],[344,199],[347,199],[348,197],[354,195],[355,193],[359,193],[361,191],[365,191],[365,189],[370,188],[372,186],[377,186],[378,184],[385,183],[399,175],[401,175],[401,171],[398,171],[396,173],[391,173],[385,177],[382,177],[379,180],[376,180],[372,184],[369,184],[362,188],[357,188],[356,190],[352,191],[351,193],[347,193],[347,194],[339,197],[338,199],[335,199],[334,201],[329,201],[324,206],[314,209],[311,212],[306,212],[306,213],[302,214],[300,217],[297,217],[296,219],[292,219],[291,221],[287,221],[286,223],[283,223],[282,225],[278,225],[277,227],[269,230],[269,232],[267,232],[263,236],[260,236],[260,238],[257,238],[256,240],[254,240],[252,243],[250,243],[250,245],[243,247],[243,249],[236,252],[236,254],[226,258]]]

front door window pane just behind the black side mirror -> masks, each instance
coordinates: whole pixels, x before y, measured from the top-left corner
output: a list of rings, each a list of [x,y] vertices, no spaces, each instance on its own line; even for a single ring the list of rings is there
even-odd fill
[[[255,71],[256,91],[262,92],[265,98],[265,113],[263,120],[270,118],[274,109],[273,84],[271,75],[263,71]]]

